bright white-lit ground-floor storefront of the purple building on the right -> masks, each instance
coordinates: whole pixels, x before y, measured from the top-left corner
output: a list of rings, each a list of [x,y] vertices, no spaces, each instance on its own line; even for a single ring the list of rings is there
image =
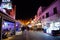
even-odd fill
[[[60,31],[60,18],[54,15],[42,21],[42,25],[46,33],[53,34],[53,31],[56,31],[57,34],[58,33],[57,31]]]

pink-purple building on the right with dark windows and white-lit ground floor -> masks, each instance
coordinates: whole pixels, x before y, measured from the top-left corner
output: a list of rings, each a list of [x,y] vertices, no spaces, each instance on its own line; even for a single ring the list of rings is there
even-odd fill
[[[39,19],[41,20],[42,28],[46,29],[47,33],[51,33],[52,30],[60,29],[59,15],[60,15],[60,0],[54,1],[40,14]]]

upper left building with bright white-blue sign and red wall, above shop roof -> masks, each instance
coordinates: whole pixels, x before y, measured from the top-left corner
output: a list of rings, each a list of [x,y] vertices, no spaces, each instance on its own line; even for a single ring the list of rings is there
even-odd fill
[[[1,11],[8,14],[11,18],[15,19],[16,7],[12,8],[11,0],[2,0]],[[7,9],[7,10],[6,10]]]

